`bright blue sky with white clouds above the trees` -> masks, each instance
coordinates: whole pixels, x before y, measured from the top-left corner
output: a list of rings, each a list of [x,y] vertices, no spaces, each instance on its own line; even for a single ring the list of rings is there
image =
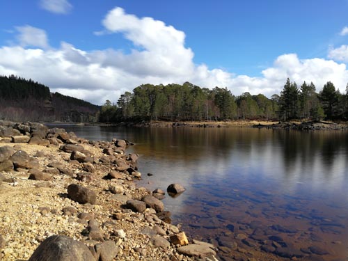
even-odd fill
[[[0,75],[102,105],[141,84],[348,83],[348,0],[3,0]]]

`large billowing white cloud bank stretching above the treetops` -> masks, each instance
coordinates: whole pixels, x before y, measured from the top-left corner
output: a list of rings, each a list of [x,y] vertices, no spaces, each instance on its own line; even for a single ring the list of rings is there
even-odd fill
[[[185,47],[184,32],[151,17],[129,15],[122,8],[111,10],[102,24],[103,33],[98,37],[104,37],[104,33],[122,33],[134,45],[131,52],[125,54],[117,47],[85,51],[68,42],[61,42],[60,47],[53,49],[47,47],[47,38],[35,45],[31,40],[23,40],[17,46],[0,47],[0,74],[31,78],[52,91],[95,104],[103,104],[105,100],[117,102],[125,91],[148,83],[190,81],[207,88],[228,87],[234,95],[249,92],[270,97],[280,93],[287,77],[299,85],[313,81],[317,90],[326,81],[332,81],[341,90],[348,82],[345,64],[323,58],[300,59],[296,54],[278,56],[270,68],[262,71],[261,77],[196,65],[193,51]]]

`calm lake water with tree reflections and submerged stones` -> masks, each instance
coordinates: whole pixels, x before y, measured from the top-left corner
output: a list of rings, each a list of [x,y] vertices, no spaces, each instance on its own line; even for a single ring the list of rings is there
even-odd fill
[[[186,187],[164,204],[189,235],[237,243],[255,257],[278,244],[309,260],[348,260],[347,132],[64,127],[86,139],[134,141],[139,186]],[[232,260],[228,248],[219,255]]]

